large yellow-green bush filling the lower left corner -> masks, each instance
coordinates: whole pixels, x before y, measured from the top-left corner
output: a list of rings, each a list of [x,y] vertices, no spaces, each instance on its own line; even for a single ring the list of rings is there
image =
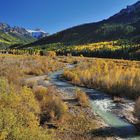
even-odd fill
[[[52,140],[39,126],[40,108],[28,88],[16,90],[0,79],[0,139]]]

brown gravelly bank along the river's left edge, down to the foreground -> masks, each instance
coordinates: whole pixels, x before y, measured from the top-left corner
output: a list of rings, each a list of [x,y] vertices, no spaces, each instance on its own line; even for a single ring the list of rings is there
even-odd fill
[[[34,81],[43,87],[54,86],[46,80],[46,76],[30,77],[27,82]],[[75,99],[75,92],[65,91],[57,86],[57,94],[68,106],[68,114],[63,122],[46,123],[44,128],[53,130],[57,138],[63,140],[113,140],[113,132],[108,130],[104,132],[104,128],[109,126],[95,114],[91,107],[82,107],[78,105]],[[51,127],[50,127],[51,126]],[[112,134],[112,135],[109,135]]]

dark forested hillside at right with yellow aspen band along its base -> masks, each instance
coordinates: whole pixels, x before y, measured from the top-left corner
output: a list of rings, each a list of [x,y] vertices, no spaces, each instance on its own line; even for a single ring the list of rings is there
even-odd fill
[[[109,19],[72,27],[18,48],[83,55],[139,59],[140,1]]]

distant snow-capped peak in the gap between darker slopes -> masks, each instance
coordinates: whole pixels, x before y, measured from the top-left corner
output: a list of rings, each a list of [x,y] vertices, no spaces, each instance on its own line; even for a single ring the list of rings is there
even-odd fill
[[[41,29],[36,29],[36,30],[27,30],[30,35],[36,39],[40,39],[43,37],[48,36],[48,33],[46,33],[45,31],[41,30]]]

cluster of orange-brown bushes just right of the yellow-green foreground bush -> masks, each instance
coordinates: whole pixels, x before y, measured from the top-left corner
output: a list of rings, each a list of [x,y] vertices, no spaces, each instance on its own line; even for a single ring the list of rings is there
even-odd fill
[[[67,105],[58,96],[54,87],[36,86],[33,89],[34,95],[41,108],[41,124],[50,121],[63,121],[67,113]]]

